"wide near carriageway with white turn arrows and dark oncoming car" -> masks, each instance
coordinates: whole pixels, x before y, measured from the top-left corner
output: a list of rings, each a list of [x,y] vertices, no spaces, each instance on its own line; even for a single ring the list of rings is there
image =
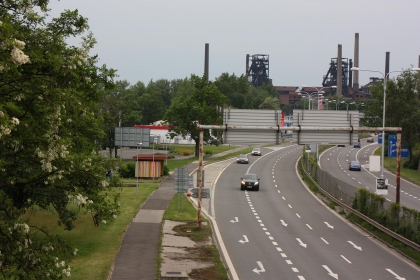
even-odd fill
[[[213,215],[238,278],[419,279],[417,266],[306,189],[296,173],[301,155],[293,144],[262,148],[249,164],[232,161],[215,182]],[[240,190],[247,172],[260,177],[259,191]]]

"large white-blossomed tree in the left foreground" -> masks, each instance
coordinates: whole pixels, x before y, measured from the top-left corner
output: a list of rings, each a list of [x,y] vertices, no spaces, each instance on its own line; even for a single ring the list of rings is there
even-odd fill
[[[95,225],[118,214],[98,154],[98,104],[115,71],[89,56],[95,38],[87,19],[65,11],[49,22],[48,0],[0,2],[0,278],[61,279],[77,253],[32,225],[27,209],[54,211],[71,230],[80,211]],[[36,12],[39,11],[39,12]],[[66,44],[79,36],[81,46]]]

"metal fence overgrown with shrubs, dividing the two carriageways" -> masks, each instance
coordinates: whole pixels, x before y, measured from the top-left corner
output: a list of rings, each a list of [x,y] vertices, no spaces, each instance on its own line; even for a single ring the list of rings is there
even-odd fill
[[[334,178],[304,153],[303,168],[324,193],[360,218],[399,241],[420,250],[420,212],[385,200]]]

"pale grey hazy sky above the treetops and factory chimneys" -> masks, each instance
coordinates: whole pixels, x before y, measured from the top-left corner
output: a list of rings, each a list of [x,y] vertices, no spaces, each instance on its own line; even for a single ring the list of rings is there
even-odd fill
[[[418,66],[419,0],[51,0],[51,15],[78,9],[89,19],[99,64],[130,84],[245,72],[246,54],[268,54],[275,86],[321,86],[342,45],[359,67],[390,71]],[[393,76],[391,74],[391,76]],[[361,85],[379,73],[361,72]]]

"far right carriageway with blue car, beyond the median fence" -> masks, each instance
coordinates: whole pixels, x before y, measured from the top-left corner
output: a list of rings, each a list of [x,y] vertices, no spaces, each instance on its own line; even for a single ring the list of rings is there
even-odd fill
[[[335,146],[322,153],[319,162],[321,168],[328,170],[335,178],[356,187],[369,189],[370,192],[375,193],[375,182],[376,178],[380,177],[380,172],[369,171],[369,156],[378,147],[380,147],[380,144],[377,142],[366,143],[366,140],[362,139],[362,147],[360,149],[348,145],[344,148]],[[348,170],[348,162],[350,160],[359,161],[362,165],[362,170]],[[390,202],[395,202],[396,176],[385,170],[384,178],[388,179],[388,183],[390,184],[388,195],[384,195],[384,197]],[[400,203],[408,208],[420,211],[420,188],[403,178],[400,180]]]

